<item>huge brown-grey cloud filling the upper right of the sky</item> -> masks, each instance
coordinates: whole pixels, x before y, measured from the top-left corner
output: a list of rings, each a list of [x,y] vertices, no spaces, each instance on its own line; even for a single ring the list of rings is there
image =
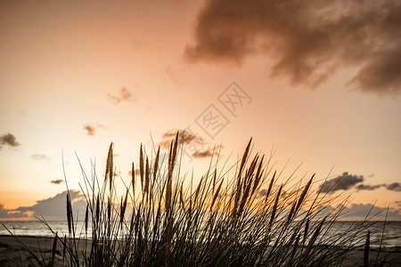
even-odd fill
[[[263,54],[272,76],[315,87],[335,70],[363,92],[401,92],[401,2],[208,0],[198,15],[188,61],[241,66]]]

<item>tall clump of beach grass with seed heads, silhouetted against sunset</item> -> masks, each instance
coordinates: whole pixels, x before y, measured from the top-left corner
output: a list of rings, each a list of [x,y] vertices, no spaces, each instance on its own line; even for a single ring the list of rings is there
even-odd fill
[[[312,190],[314,175],[283,181],[270,158],[251,156],[250,141],[234,174],[219,171],[216,163],[195,179],[180,174],[179,140],[177,134],[168,158],[160,158],[160,148],[145,157],[141,146],[139,172],[133,163],[122,196],[110,144],[104,178],[84,173],[85,230],[80,234],[67,195],[69,233],[54,232],[64,265],[340,266],[364,245],[363,226],[345,235],[332,230],[348,198]],[[337,208],[328,212],[323,207],[329,205]]]

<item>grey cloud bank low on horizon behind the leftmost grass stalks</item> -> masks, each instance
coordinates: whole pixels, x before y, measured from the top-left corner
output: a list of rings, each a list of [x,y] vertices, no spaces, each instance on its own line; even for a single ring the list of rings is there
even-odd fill
[[[70,190],[70,198],[74,215],[77,213],[85,214],[86,202],[83,195],[77,190]],[[38,200],[37,204],[33,206],[20,206],[12,212],[14,212],[14,214],[32,213],[32,216],[43,216],[47,221],[63,221],[67,218],[66,199],[67,191],[63,191],[52,198]]]

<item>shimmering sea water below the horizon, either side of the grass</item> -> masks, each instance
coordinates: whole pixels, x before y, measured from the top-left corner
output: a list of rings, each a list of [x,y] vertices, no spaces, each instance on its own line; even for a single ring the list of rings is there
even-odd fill
[[[39,236],[39,237],[53,237],[52,231],[39,221],[9,221],[0,222],[0,235],[9,235],[10,233],[1,224],[3,223],[15,235],[21,236]],[[57,231],[59,236],[64,234],[68,235],[67,222],[47,222],[53,231]],[[347,235],[349,229],[359,230],[361,239],[358,244],[364,246],[364,238],[367,231],[371,231],[371,247],[383,247],[386,249],[399,249],[401,248],[401,222],[387,222],[384,228],[384,223],[363,223],[360,222],[336,222],[331,225],[328,230],[328,235]],[[85,235],[85,225],[83,222],[76,222],[75,224],[76,235],[80,237],[90,238],[91,229],[88,229],[87,236]],[[383,239],[381,236],[383,235]],[[0,237],[1,239],[1,237]]]

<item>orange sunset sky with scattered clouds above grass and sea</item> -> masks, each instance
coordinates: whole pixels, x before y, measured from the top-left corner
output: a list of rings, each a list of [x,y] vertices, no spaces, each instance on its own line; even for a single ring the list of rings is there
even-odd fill
[[[252,137],[282,181],[401,220],[400,20],[399,1],[1,0],[0,220],[58,219],[79,162],[102,174],[114,142],[129,181],[178,130],[186,173]]]

